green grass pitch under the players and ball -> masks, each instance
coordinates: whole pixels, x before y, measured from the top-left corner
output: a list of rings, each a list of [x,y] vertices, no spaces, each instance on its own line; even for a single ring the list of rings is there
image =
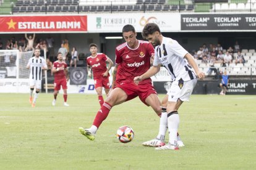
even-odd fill
[[[160,95],[160,99],[163,95]],[[179,110],[180,150],[143,147],[158,134],[159,118],[134,99],[111,110],[95,141],[79,133],[100,108],[96,95],[0,94],[0,169],[255,169],[256,96],[192,95]],[[119,126],[135,131],[132,142],[116,139]],[[168,137],[166,139],[168,141]]]

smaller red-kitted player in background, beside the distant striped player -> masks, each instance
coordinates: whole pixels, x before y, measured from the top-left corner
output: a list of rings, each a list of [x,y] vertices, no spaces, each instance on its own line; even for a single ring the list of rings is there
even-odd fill
[[[64,106],[69,106],[67,103],[67,81],[69,81],[69,72],[67,71],[67,64],[62,59],[62,53],[59,52],[57,56],[58,60],[53,63],[54,73],[54,99],[53,106],[56,105],[57,95],[59,90],[63,89]]]

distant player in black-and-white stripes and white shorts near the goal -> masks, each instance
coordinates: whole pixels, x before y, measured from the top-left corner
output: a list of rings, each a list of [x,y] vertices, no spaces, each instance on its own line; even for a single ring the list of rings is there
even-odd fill
[[[32,107],[35,107],[36,99],[38,98],[40,89],[43,70],[47,70],[45,59],[40,57],[40,49],[35,49],[35,56],[28,60],[27,68],[30,69],[29,75],[29,86],[30,86],[30,97],[29,102],[32,103]],[[36,89],[34,99],[32,97],[33,91]]]

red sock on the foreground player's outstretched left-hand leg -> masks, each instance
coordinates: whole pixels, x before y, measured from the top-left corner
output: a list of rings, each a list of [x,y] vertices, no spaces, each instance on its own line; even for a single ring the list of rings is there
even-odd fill
[[[98,111],[95,119],[93,121],[93,125],[96,127],[100,127],[100,124],[108,117],[108,113],[111,110],[112,106],[109,103],[104,102]]]

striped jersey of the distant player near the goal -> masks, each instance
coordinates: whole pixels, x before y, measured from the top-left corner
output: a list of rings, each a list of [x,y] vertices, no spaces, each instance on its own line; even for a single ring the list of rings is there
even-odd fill
[[[47,68],[47,65],[43,57],[32,57],[28,60],[27,67],[30,67],[30,79],[41,80],[43,74],[42,68]]]

